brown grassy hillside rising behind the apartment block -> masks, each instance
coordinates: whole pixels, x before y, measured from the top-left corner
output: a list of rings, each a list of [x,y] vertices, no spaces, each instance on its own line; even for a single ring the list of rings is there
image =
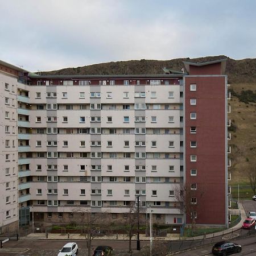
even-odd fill
[[[233,60],[227,56],[209,56],[197,59],[174,60],[130,60],[87,65],[77,68],[65,68],[57,71],[42,72],[42,75],[131,75],[162,74],[163,68],[180,71],[183,61],[204,62],[227,59],[226,74],[231,86],[232,120],[230,133],[232,139],[232,181],[231,184],[247,183],[245,170],[254,166],[256,153],[256,59]]]

